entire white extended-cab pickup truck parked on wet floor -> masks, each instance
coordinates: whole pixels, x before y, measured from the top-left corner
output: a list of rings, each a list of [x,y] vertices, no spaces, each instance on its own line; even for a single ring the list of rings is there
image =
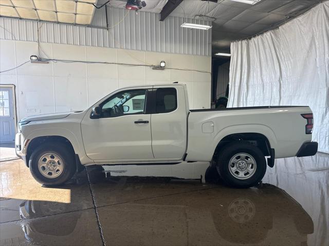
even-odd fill
[[[307,106],[190,110],[186,86],[167,84],[122,88],[84,111],[26,117],[15,148],[48,186],[88,165],[209,161],[243,188],[262,180],[275,158],[315,155],[312,129]]]

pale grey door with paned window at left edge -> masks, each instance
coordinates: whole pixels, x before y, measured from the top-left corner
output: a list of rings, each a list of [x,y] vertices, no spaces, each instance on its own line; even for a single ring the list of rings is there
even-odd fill
[[[0,88],[0,142],[15,140],[15,114],[11,87]]]

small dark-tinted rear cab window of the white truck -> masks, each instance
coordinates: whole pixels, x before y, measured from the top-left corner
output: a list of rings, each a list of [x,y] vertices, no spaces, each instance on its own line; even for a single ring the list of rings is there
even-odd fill
[[[156,90],[155,112],[169,113],[177,109],[177,91],[175,88],[158,88]]]

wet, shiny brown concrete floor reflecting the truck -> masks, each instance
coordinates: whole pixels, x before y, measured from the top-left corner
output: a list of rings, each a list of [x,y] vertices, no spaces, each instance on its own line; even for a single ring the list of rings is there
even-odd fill
[[[94,168],[48,188],[22,160],[0,174],[1,245],[329,245],[326,154],[278,159],[249,189]]]

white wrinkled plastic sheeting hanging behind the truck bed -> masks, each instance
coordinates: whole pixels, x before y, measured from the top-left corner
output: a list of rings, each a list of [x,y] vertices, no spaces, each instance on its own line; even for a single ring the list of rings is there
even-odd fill
[[[329,2],[279,29],[233,42],[231,54],[228,107],[307,105],[315,118],[313,140],[329,153]]]

